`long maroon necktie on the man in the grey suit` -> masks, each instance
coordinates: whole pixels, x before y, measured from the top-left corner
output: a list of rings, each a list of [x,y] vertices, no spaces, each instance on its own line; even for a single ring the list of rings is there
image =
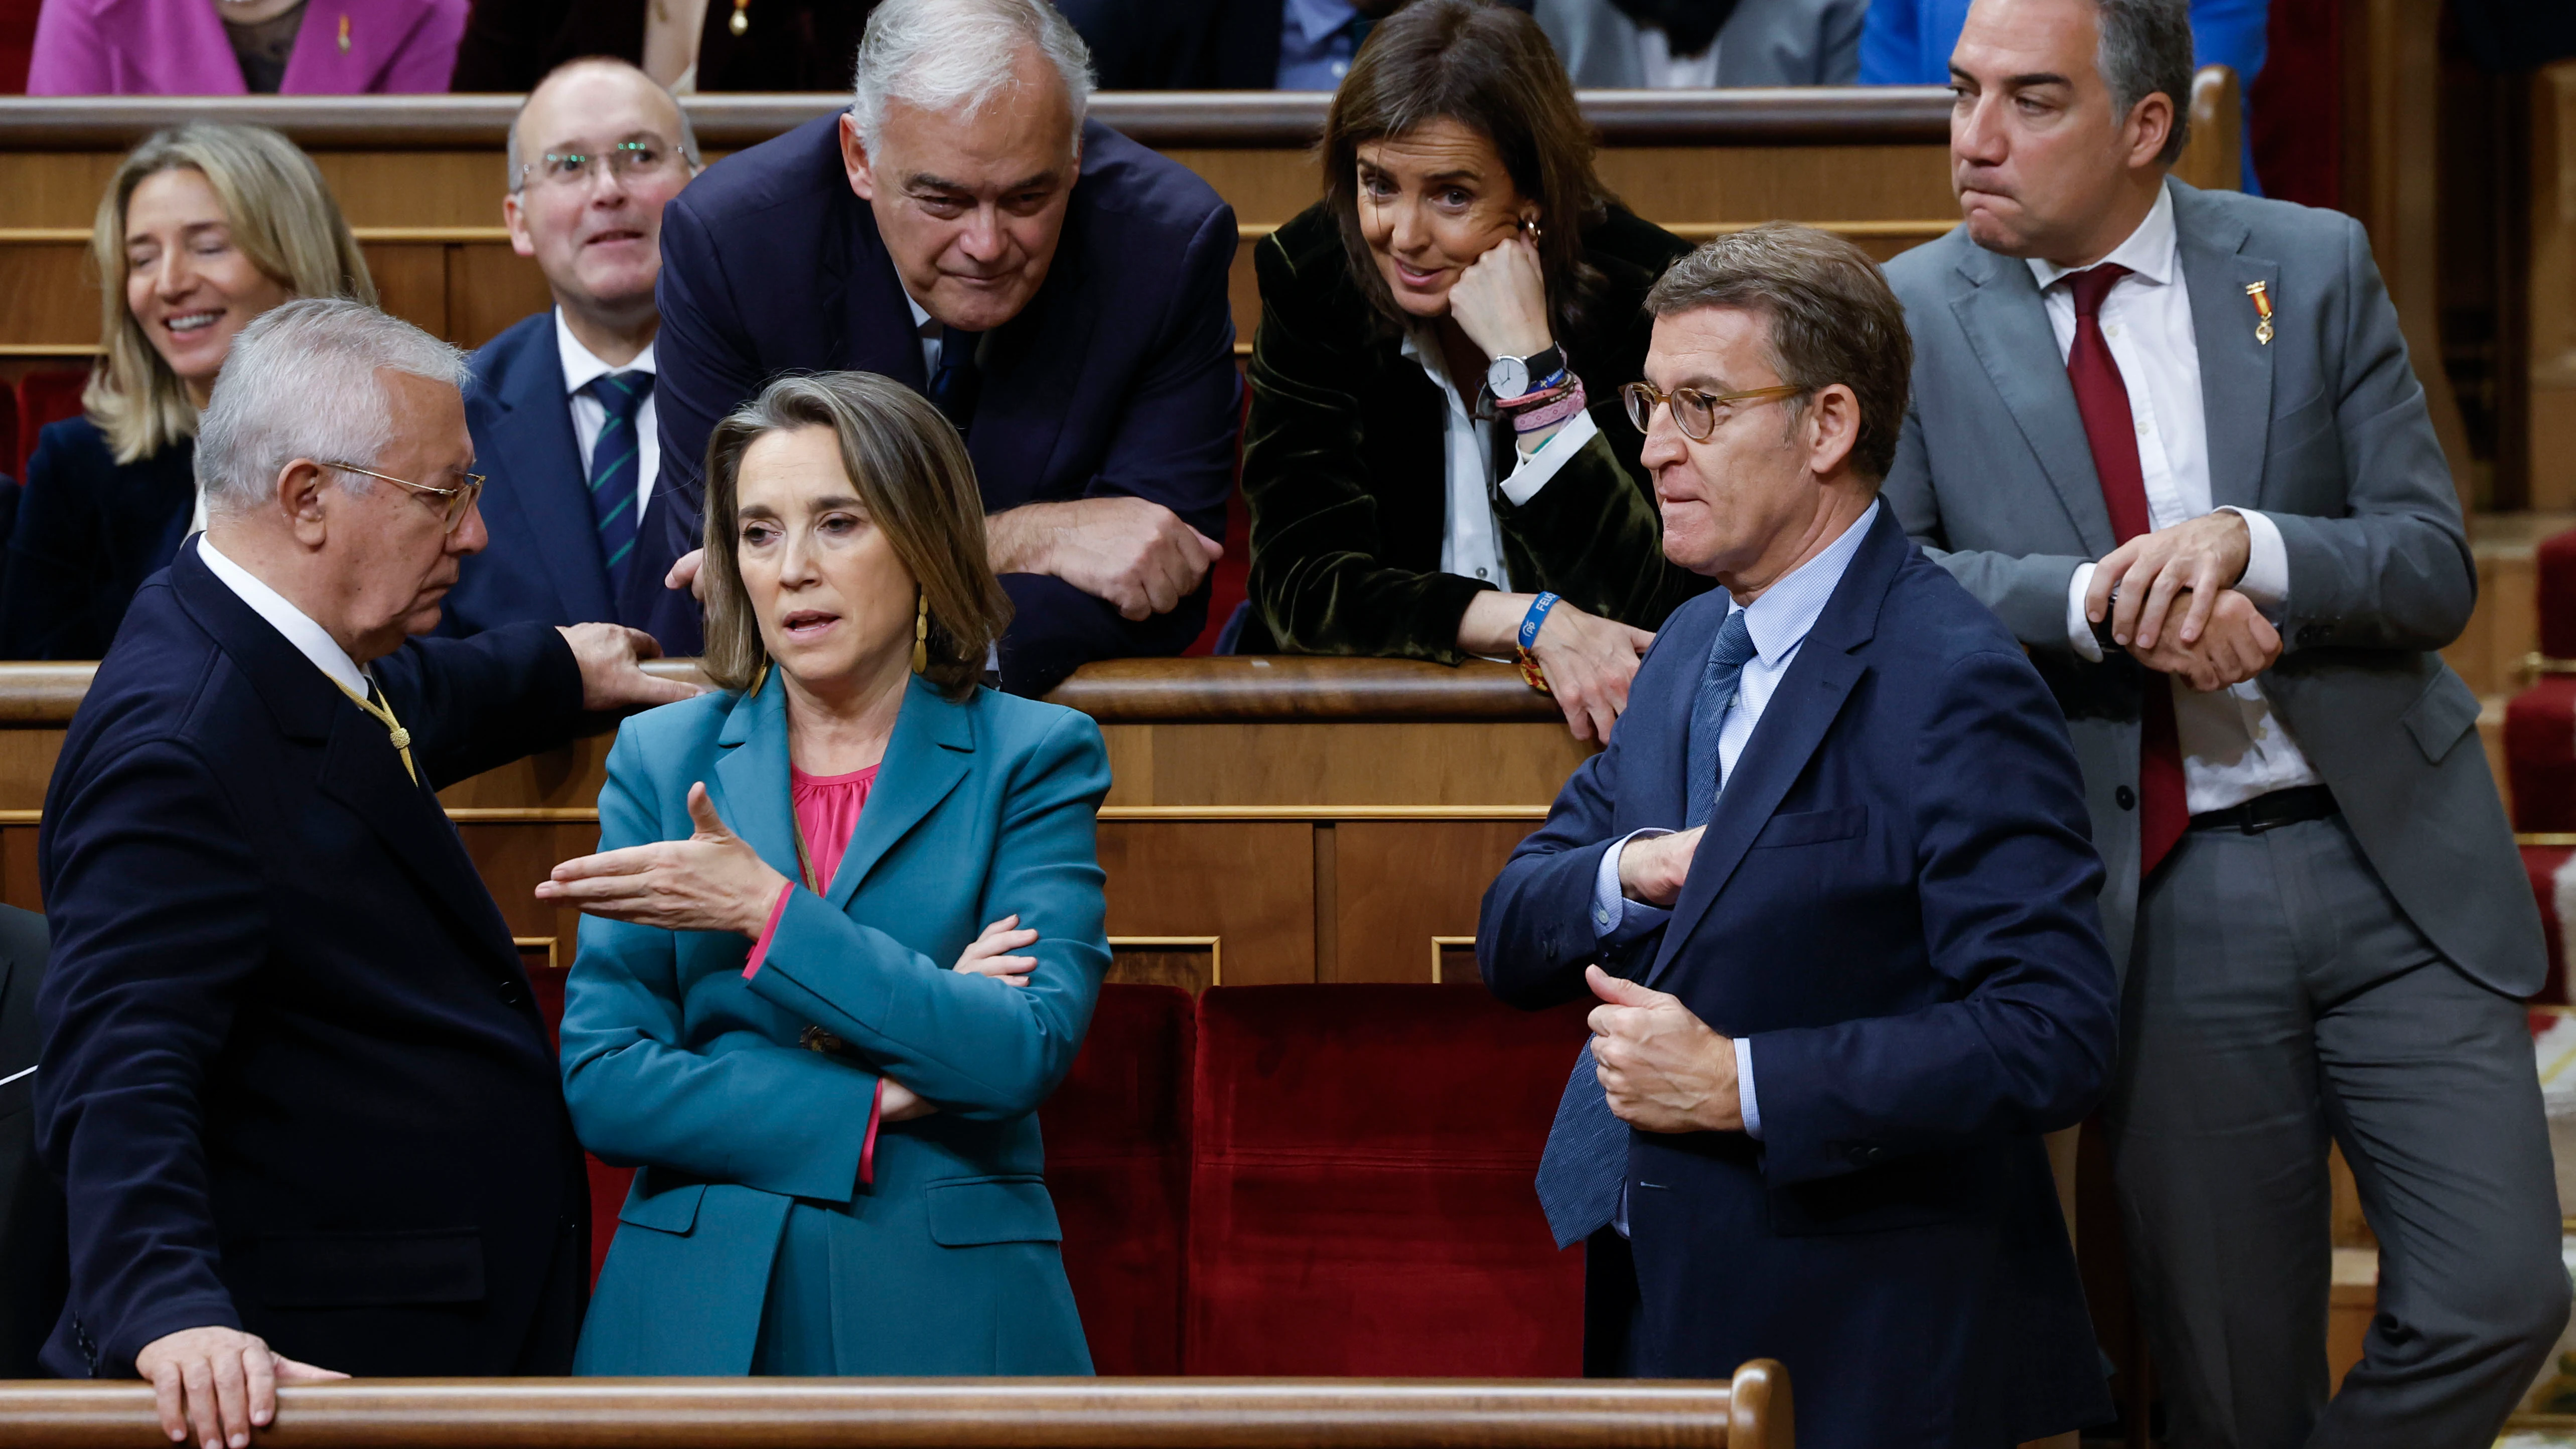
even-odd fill
[[[2128,409],[2128,383],[2102,340],[2102,299],[2128,275],[2117,263],[2102,263],[2066,278],[2076,293],[2076,345],[2066,350],[2066,381],[2076,386],[2076,412],[2084,414],[2084,440],[2092,445],[2094,474],[2102,476],[2102,502],[2110,507],[2110,533],[2128,543],[2156,525],[2146,512],[2146,471],[2138,466],[2138,422]],[[2138,875],[2151,875],[2192,811],[2182,795],[2182,736],[2174,734],[2174,690],[2148,669],[2138,695]]]

